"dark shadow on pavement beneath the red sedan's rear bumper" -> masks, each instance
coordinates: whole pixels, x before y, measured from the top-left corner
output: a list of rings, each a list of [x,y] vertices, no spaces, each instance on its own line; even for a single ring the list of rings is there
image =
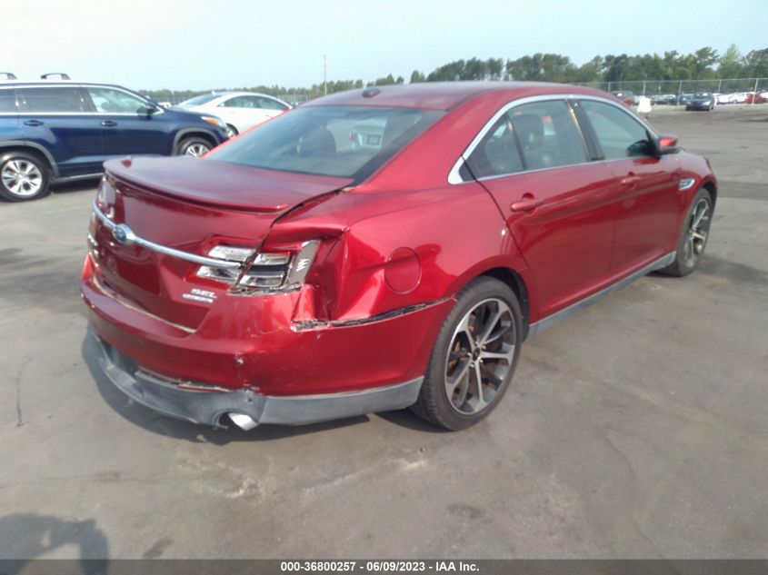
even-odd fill
[[[115,385],[110,382],[104,372],[101,371],[98,362],[95,360],[95,354],[89,353],[90,346],[93,345],[95,345],[93,339],[88,335],[85,335],[81,344],[81,356],[83,357],[83,362],[85,362],[91,377],[94,379],[96,390],[98,390],[102,398],[104,398],[107,405],[126,420],[131,421],[131,423],[138,425],[147,431],[153,431],[175,439],[191,441],[194,443],[214,443],[214,445],[225,445],[226,443],[233,441],[273,441],[371,421],[370,416],[360,415],[342,420],[324,421],[322,423],[312,423],[309,425],[264,425],[256,427],[251,431],[243,431],[234,425],[234,423],[230,424],[228,429],[214,429],[190,421],[176,420],[133,401],[127,397],[125,393],[115,388]],[[380,417],[384,421],[389,421],[395,425],[409,428],[414,431],[442,432],[442,430],[419,419],[414,413],[408,410],[377,413],[375,414],[375,417]]]

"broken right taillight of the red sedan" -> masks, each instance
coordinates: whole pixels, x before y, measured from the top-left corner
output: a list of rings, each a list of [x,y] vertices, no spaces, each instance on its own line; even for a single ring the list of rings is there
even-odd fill
[[[304,284],[319,245],[319,241],[312,240],[258,253],[249,248],[217,245],[208,252],[208,257],[242,265],[235,269],[203,265],[197,270],[197,276],[232,284],[235,290],[242,292],[291,292]]]

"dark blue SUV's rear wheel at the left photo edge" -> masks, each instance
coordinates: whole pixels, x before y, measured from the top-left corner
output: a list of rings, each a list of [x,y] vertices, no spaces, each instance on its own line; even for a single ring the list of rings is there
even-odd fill
[[[11,202],[30,202],[48,193],[50,168],[35,154],[0,153],[0,196]]]

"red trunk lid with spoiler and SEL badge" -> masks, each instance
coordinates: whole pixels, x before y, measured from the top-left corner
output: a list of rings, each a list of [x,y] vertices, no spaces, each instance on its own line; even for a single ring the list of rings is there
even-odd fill
[[[219,244],[257,249],[281,215],[351,183],[192,157],[114,160],[105,171],[98,203],[112,222],[150,242],[203,256]],[[115,241],[98,218],[91,234],[105,290],[167,322],[196,328],[228,289],[197,277],[197,263]]]

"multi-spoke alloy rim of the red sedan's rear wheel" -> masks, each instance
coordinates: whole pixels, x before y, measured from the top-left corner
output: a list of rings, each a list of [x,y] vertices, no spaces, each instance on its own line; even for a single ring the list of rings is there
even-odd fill
[[[445,392],[455,411],[474,415],[494,402],[512,369],[516,338],[503,300],[484,300],[464,314],[445,362]]]

